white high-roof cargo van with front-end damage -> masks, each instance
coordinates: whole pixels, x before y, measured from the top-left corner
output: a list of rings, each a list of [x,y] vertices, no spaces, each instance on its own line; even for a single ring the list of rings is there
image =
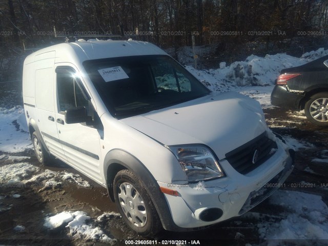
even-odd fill
[[[259,103],[214,94],[158,47],[79,40],[25,59],[23,97],[38,160],[50,155],[108,189],[140,235],[241,215],[293,169]]]

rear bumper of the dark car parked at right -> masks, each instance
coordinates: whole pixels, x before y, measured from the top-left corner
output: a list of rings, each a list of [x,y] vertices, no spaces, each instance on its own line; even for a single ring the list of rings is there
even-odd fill
[[[276,85],[271,93],[271,104],[281,108],[300,110],[302,95],[289,92],[286,87]]]

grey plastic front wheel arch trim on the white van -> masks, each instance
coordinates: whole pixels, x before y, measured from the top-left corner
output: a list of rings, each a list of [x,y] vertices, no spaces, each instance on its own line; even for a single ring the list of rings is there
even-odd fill
[[[185,231],[186,229],[177,227],[173,222],[172,215],[167,204],[166,198],[160,192],[159,185],[153,175],[145,165],[135,156],[122,149],[114,149],[108,152],[104,159],[104,174],[106,178],[106,187],[109,197],[115,201],[113,191],[113,181],[116,174],[123,169],[134,172],[139,181],[144,185],[151,197],[162,226],[166,230]]]

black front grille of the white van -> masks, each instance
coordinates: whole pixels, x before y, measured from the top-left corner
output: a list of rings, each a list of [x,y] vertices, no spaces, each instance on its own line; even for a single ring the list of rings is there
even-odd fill
[[[257,158],[254,157],[256,150]],[[247,174],[262,165],[276,150],[276,142],[268,138],[267,132],[263,132],[253,140],[227,153],[226,159],[237,172]]]

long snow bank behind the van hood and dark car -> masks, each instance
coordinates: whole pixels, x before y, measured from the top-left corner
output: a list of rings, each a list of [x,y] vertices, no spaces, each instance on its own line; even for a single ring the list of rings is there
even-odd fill
[[[198,71],[192,66],[186,68],[199,80],[206,81],[214,91],[226,91],[231,86],[266,86],[274,85],[281,69],[301,66],[309,61],[328,54],[323,48],[302,55],[301,58],[286,54],[250,55],[244,61],[235,61],[226,67],[223,63],[219,69]],[[228,88],[227,88],[228,87]]]

